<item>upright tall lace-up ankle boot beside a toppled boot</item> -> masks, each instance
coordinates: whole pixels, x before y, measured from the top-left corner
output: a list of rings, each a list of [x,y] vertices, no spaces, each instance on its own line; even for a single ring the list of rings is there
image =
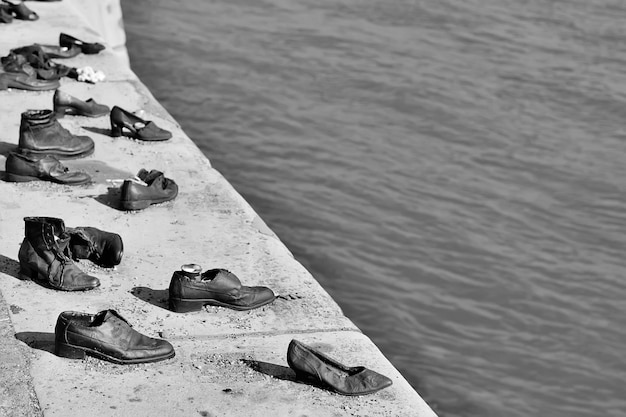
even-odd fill
[[[70,241],[63,220],[54,217],[25,217],[25,235],[18,254],[20,276],[44,281],[63,291],[85,291],[100,281],[78,269],[68,256]]]

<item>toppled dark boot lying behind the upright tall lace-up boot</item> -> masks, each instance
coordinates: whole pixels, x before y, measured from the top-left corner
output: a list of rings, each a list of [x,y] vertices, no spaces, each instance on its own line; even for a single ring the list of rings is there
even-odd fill
[[[119,265],[124,254],[122,237],[95,227],[67,228],[70,252],[74,259],[89,259],[96,265],[112,268]]]

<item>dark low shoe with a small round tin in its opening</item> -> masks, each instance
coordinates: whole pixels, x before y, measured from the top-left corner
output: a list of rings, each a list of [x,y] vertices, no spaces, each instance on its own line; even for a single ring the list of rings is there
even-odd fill
[[[169,305],[172,311],[197,311],[206,304],[233,310],[252,310],[276,298],[267,287],[241,285],[239,278],[225,269],[194,274],[186,272],[185,267],[183,265],[183,270],[175,271],[170,281]]]

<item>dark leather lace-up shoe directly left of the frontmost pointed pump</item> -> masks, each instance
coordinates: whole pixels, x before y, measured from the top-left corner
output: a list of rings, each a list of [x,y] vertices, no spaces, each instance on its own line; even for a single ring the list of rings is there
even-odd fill
[[[95,356],[118,364],[156,362],[174,357],[174,347],[134,330],[115,310],[97,314],[64,311],[54,329],[54,353],[70,359]]]

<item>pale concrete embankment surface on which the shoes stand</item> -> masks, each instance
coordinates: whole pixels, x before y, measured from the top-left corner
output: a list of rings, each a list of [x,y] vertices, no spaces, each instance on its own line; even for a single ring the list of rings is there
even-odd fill
[[[95,0],[92,0],[95,1]],[[0,56],[32,43],[57,44],[60,32],[87,41],[100,33],[79,13],[78,2],[27,2],[40,20],[0,24]],[[92,66],[107,80],[92,85],[63,79],[61,90],[110,107],[142,109],[145,119],[173,138],[142,143],[109,136],[108,117],[67,116],[70,132],[96,143],[87,158],[64,162],[87,171],[94,183],[70,187],[50,182],[0,181],[0,416],[434,416],[433,411],[371,340],[267,228],[167,111],[109,49],[57,60]],[[0,91],[0,171],[18,143],[20,114],[51,109],[53,91]],[[137,212],[115,208],[124,179],[140,168],[158,169],[179,186],[171,202]],[[3,174],[3,172],[0,172]],[[79,267],[101,287],[61,292],[18,277],[17,253],[25,216],[60,217],[68,227],[93,226],[124,240],[122,263]],[[206,307],[177,314],[167,309],[172,273],[185,263],[226,268],[247,285],[280,296],[250,312]],[[60,312],[115,309],[133,327],[169,340],[173,359],[114,365],[54,355]],[[12,327],[11,327],[12,323]],[[13,332],[15,338],[13,338]],[[311,344],[340,362],[364,365],[393,380],[390,388],[346,397],[295,380],[286,361],[291,339]]]

